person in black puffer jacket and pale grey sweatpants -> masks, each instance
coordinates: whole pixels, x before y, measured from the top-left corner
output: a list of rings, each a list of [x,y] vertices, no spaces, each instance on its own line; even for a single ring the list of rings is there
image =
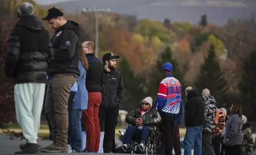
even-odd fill
[[[16,27],[9,36],[6,55],[6,76],[14,79],[16,117],[27,140],[21,145],[23,153],[38,153],[37,134],[43,107],[46,71],[54,60],[48,31],[37,17],[33,16],[31,3],[19,6]]]

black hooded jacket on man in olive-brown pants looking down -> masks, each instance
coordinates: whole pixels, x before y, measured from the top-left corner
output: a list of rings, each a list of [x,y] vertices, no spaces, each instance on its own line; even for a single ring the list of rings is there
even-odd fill
[[[50,64],[47,74],[74,74],[80,76],[79,63],[80,26],[74,21],[56,29],[51,38],[55,61]]]

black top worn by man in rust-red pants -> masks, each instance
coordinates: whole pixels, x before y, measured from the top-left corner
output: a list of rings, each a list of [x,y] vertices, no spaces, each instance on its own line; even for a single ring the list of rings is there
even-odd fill
[[[86,58],[89,64],[85,80],[86,89],[88,92],[101,92],[103,63],[93,53],[86,54]]]

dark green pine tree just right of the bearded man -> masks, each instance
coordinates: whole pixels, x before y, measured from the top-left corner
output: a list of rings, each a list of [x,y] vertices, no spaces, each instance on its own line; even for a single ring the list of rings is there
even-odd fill
[[[124,97],[121,108],[131,112],[140,106],[140,101],[144,99],[145,94],[140,80],[134,75],[129,62],[125,57],[118,63],[117,69],[121,72],[124,83]]]

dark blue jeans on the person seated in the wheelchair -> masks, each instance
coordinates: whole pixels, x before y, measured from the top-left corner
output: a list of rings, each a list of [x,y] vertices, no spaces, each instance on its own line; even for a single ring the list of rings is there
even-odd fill
[[[146,143],[148,134],[149,128],[147,126],[144,126],[142,130],[140,130],[136,126],[129,125],[124,135],[123,144],[132,144],[132,136],[138,135],[140,135],[139,140],[144,141]]]

